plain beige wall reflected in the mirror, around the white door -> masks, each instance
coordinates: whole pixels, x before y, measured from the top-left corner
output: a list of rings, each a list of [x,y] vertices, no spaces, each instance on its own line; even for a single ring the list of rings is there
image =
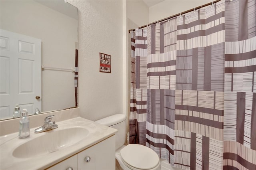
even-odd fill
[[[1,1],[1,29],[41,39],[42,65],[74,68],[77,20],[32,0],[9,0]],[[74,73],[42,71],[42,111],[74,107],[74,96]]]

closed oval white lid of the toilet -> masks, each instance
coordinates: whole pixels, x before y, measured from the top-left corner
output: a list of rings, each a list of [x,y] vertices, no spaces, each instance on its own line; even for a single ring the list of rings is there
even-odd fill
[[[128,144],[120,150],[122,159],[137,169],[152,169],[159,163],[159,157],[152,149],[140,144]]]

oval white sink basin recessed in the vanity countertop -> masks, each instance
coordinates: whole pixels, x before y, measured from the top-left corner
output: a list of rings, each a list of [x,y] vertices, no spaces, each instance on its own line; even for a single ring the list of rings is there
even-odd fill
[[[71,127],[55,131],[46,131],[42,136],[28,140],[12,152],[16,158],[29,158],[56,152],[72,146],[89,134],[86,128]]]

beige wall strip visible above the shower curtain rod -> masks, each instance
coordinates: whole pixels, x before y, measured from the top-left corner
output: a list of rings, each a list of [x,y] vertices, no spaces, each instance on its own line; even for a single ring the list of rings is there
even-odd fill
[[[149,23],[212,2],[210,0],[165,0],[149,8]]]

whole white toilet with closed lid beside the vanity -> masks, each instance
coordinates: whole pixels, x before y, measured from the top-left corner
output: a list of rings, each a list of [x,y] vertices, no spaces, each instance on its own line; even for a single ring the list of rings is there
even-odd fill
[[[140,144],[124,145],[126,116],[116,114],[96,121],[118,130],[116,133],[116,160],[124,170],[160,170],[160,159],[152,149]]]

